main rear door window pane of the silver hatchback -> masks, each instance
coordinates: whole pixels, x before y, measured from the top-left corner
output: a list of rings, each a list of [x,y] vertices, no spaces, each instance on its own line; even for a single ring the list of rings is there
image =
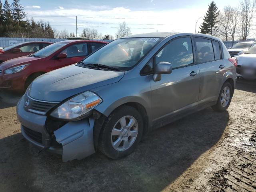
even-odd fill
[[[204,38],[195,38],[197,60],[199,63],[214,61],[212,41]]]

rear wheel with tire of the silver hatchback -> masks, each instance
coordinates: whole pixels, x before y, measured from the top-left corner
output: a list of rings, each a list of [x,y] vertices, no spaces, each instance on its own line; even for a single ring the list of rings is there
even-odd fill
[[[229,98],[228,98],[227,92],[225,94],[225,88],[226,90],[229,90]],[[218,101],[216,105],[212,106],[212,109],[217,112],[224,112],[229,107],[232,96],[233,96],[233,88],[229,82],[225,82],[220,90]]]

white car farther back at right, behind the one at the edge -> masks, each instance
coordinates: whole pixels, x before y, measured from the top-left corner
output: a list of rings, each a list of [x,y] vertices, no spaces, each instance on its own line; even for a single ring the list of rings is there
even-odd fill
[[[255,44],[256,42],[253,41],[240,42],[228,48],[228,52],[231,57],[236,57],[248,51],[248,49]]]

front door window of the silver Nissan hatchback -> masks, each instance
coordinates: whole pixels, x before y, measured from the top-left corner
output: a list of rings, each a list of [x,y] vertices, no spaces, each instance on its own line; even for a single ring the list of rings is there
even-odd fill
[[[191,38],[178,38],[164,46],[156,55],[156,64],[162,61],[171,63],[172,68],[193,64]]]

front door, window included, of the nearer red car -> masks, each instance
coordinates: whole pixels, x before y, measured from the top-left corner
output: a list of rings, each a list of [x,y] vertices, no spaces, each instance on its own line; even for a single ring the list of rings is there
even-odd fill
[[[55,68],[61,68],[64,66],[68,66],[71,64],[75,64],[82,59],[84,59],[88,55],[88,43],[83,42],[83,43],[77,43],[77,44],[72,44],[62,50],[60,53],[66,53],[67,58],[61,58],[61,59],[55,59]]]

